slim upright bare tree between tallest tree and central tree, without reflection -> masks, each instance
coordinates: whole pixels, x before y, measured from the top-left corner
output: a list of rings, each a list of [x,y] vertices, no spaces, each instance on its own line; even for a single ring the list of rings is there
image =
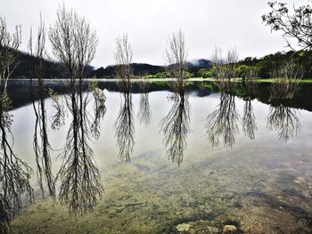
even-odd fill
[[[121,92],[130,93],[131,78],[133,77],[133,69],[131,62],[133,59],[132,46],[128,41],[128,36],[123,35],[116,38],[115,52],[115,72],[119,79],[119,88]]]

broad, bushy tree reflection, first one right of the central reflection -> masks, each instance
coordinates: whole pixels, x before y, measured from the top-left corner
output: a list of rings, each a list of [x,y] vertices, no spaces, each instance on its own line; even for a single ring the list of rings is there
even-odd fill
[[[233,147],[235,137],[239,133],[237,121],[240,116],[235,106],[235,96],[221,93],[218,108],[207,117],[207,135],[212,147],[217,147],[220,138],[225,147]]]

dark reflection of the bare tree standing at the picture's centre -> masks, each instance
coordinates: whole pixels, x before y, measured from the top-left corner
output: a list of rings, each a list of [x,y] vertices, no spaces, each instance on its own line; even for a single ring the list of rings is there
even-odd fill
[[[167,148],[166,155],[172,163],[180,165],[183,162],[186,139],[190,132],[190,104],[185,89],[168,97],[173,101],[168,115],[160,122]]]

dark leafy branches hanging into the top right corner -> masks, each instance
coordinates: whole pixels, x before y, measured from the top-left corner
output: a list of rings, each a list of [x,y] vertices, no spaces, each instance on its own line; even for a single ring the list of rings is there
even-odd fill
[[[282,31],[283,38],[291,49],[294,50],[291,39],[296,39],[303,49],[312,49],[312,7],[310,4],[292,9],[285,3],[268,2],[271,12],[262,16],[263,22],[271,31]],[[292,44],[292,45],[291,45]]]

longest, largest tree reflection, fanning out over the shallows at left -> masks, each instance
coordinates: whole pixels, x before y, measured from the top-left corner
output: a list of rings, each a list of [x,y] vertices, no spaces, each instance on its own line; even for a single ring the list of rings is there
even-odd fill
[[[57,179],[61,182],[61,204],[68,206],[70,213],[76,215],[92,210],[102,197],[103,189],[100,171],[94,163],[94,152],[88,145],[92,124],[86,109],[88,96],[87,93],[82,93],[81,81],[77,91],[70,93],[66,103],[72,120],[61,154],[63,162]]]

